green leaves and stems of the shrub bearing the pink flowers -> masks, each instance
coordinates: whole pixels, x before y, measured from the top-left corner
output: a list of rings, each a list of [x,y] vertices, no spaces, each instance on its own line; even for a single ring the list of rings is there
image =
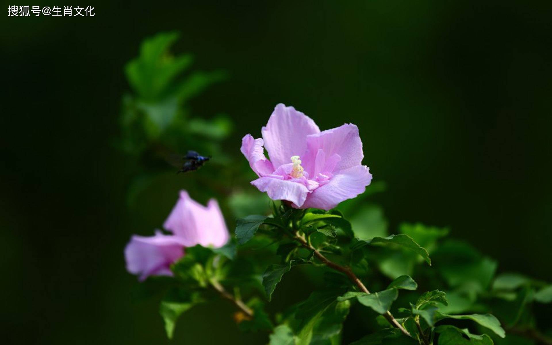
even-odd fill
[[[213,159],[179,185],[202,200],[216,197],[237,221],[225,247],[186,248],[172,266],[174,277],[152,277],[137,289],[142,298],[163,296],[160,314],[169,338],[179,316],[222,297],[236,307],[237,327],[266,333],[270,345],[341,344],[359,315],[363,334],[355,345],[552,344],[552,328],[534,313],[552,302],[552,285],[497,274],[495,260],[448,238],[449,229],[405,223],[391,233],[383,209],[371,201],[384,183],[328,212],[296,210],[244,192],[251,172],[245,160],[232,162],[223,149],[229,118],[193,117],[187,107],[225,74],[184,76],[192,57],[169,53],[177,38],[162,33],[146,39],[125,68],[132,93],[123,99],[119,144],[136,171],[129,205],[156,181],[181,179],[168,157],[195,150]],[[290,276],[293,289],[279,296]],[[410,336],[392,327],[391,311]]]

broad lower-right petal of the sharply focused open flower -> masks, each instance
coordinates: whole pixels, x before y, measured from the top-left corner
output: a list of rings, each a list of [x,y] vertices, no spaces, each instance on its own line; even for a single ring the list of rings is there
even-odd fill
[[[358,194],[364,193],[366,186],[370,184],[372,175],[367,166],[356,166],[341,171],[330,180],[321,185],[308,195],[300,208],[316,208],[331,210],[341,201],[352,199]]]

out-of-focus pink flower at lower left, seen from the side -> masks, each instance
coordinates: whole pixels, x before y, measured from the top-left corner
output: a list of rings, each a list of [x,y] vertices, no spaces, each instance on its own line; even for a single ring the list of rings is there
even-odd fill
[[[150,237],[134,235],[125,247],[126,269],[138,274],[140,281],[150,275],[172,275],[171,264],[184,256],[184,247],[220,248],[230,238],[216,200],[209,200],[205,207],[185,190],[163,226],[173,235],[160,231]]]

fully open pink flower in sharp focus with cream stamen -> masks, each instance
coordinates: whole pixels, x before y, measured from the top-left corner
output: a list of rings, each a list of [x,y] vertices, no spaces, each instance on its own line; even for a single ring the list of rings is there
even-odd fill
[[[295,208],[330,210],[364,193],[370,184],[372,176],[362,165],[362,141],[353,124],[321,132],[309,116],[278,104],[261,132],[263,139],[244,136],[241,152],[259,176],[251,184],[273,200],[288,200]]]

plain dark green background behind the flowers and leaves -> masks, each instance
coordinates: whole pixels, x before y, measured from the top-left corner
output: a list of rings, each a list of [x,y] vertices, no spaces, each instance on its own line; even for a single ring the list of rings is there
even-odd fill
[[[167,342],[156,301],[130,298],[122,251],[131,233],[162,224],[176,192],[129,213],[131,171],[113,145],[124,63],[163,30],[181,31],[173,50],[192,52],[195,68],[230,73],[189,104],[195,116],[235,120],[227,151],[259,136],[279,102],[321,129],[350,121],[374,181],[388,184],[376,201],[391,230],[450,226],[501,272],[552,280],[551,2],[88,4],[95,17],[6,10],[0,20],[7,343]],[[262,343],[241,335],[230,312],[193,309],[176,338]]]

